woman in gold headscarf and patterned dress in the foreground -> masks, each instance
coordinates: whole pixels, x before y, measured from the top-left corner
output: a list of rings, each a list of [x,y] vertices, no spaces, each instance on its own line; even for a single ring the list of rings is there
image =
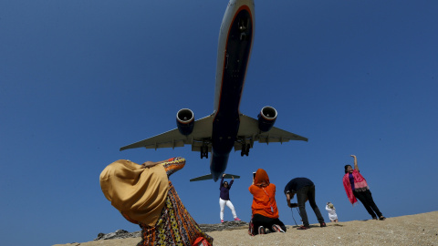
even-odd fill
[[[143,245],[213,243],[185,209],[169,177],[183,169],[185,159],[146,161],[141,165],[120,159],[100,174],[100,187],[126,220],[139,224]]]

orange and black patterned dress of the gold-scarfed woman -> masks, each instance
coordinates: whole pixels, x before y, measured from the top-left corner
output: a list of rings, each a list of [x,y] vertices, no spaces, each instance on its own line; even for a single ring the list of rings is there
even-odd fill
[[[166,169],[167,177],[169,178],[175,171],[183,169],[185,159],[174,158],[161,165]],[[193,220],[192,216],[185,209],[171,180],[169,180],[166,204],[155,226],[151,227],[141,222],[130,220],[130,218],[125,215],[123,216],[126,220],[139,224],[141,227],[141,241],[137,246],[192,245],[199,237],[203,237],[210,244],[213,244],[213,238],[201,231],[196,221]]]

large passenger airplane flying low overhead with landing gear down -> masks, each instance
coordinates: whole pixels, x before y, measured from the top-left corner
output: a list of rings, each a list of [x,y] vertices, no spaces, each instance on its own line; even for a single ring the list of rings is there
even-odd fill
[[[251,56],[255,32],[254,0],[230,0],[226,7],[219,32],[217,48],[216,81],[214,90],[214,112],[204,118],[194,119],[189,108],[176,114],[176,125],[170,131],[132,143],[124,149],[144,147],[160,149],[192,145],[192,151],[199,151],[201,159],[210,161],[210,174],[190,179],[217,181],[224,173],[231,150],[240,150],[241,156],[248,156],[254,142],[308,141],[308,138],[286,130],[275,128],[276,109],[266,106],[260,110],[257,119],[240,113],[239,106],[245,85],[245,75]],[[237,175],[225,175],[229,179]]]

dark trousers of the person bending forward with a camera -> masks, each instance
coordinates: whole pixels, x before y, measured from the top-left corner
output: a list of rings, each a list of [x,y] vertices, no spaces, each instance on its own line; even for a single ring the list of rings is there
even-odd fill
[[[305,186],[297,191],[297,201],[298,201],[298,209],[299,215],[301,215],[301,219],[303,220],[303,225],[308,227],[308,213],[306,212],[306,199],[308,199],[308,203],[310,203],[310,207],[315,212],[317,216],[318,222],[323,223],[324,218],[322,218],[321,211],[319,211],[317,202],[315,201],[315,186]]]

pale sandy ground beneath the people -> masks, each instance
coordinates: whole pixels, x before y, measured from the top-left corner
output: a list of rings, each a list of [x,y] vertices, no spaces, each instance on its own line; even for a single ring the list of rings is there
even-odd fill
[[[214,245],[437,245],[438,211],[388,218],[311,225],[306,231],[289,226],[286,233],[251,237],[246,229],[208,232]],[[140,238],[56,244],[53,246],[135,246]]]

